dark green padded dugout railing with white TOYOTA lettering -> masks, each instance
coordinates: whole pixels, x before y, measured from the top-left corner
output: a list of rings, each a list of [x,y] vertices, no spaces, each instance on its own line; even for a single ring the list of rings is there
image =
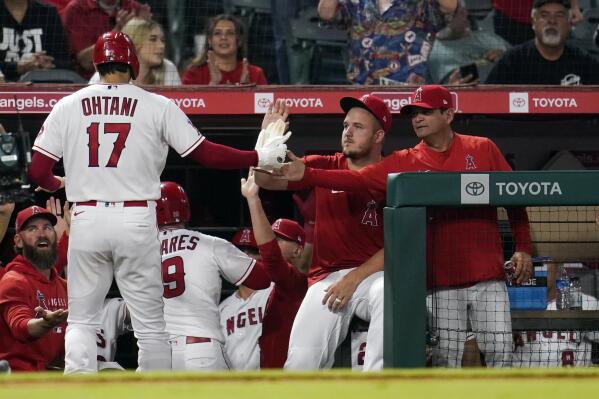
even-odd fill
[[[385,368],[426,365],[428,207],[599,204],[599,171],[389,175],[385,218]],[[595,243],[599,245],[599,243]],[[598,312],[512,312],[514,329],[599,330]]]

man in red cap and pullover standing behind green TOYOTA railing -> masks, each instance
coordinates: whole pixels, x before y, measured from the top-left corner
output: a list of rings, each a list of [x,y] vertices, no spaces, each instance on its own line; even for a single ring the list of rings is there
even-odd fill
[[[444,87],[420,87],[401,113],[411,117],[414,131],[422,139],[414,148],[395,151],[382,162],[360,170],[318,170],[296,160],[284,166],[280,173],[289,180],[302,179],[306,186],[335,190],[367,188],[374,199],[382,200],[389,173],[510,170],[491,140],[453,132],[452,98]],[[522,282],[532,274],[528,218],[523,209],[508,209],[508,215],[516,241],[512,260],[516,263],[517,280]],[[428,287],[432,291],[427,304],[433,310],[433,329],[440,336],[435,364],[460,365],[470,317],[487,364],[509,366],[511,318],[503,282],[496,210],[435,208],[429,211],[428,220],[427,270]],[[493,317],[489,317],[488,306],[493,307]]]

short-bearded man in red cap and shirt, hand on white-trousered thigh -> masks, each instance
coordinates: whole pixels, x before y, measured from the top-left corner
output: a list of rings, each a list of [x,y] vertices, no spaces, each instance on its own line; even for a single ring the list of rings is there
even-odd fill
[[[391,111],[373,95],[344,97],[342,152],[309,155],[309,167],[360,170],[382,159]],[[263,173],[256,182],[269,190],[303,190],[303,182],[277,180]],[[383,367],[383,202],[368,190],[314,188],[313,262],[308,291],[298,310],[285,368],[330,368],[337,346],[344,340],[353,315],[370,321],[364,370]]]

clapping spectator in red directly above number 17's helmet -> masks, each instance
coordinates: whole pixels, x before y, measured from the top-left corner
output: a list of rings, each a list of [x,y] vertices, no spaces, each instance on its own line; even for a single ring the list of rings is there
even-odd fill
[[[86,79],[95,72],[92,52],[98,36],[122,30],[133,17],[151,16],[150,7],[135,0],[71,0],[62,22],[77,72]]]

